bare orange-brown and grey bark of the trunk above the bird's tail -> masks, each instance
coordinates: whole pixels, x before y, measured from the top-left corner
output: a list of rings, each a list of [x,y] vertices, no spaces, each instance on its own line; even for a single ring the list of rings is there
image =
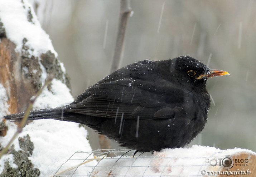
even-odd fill
[[[4,28],[2,29],[4,30]],[[68,77],[62,71],[60,62],[55,55],[50,50],[40,56],[31,55],[29,54],[31,48],[26,46],[27,41],[26,38],[23,39],[22,50],[19,52],[15,51],[14,42],[6,36],[1,37],[0,81],[6,89],[8,111],[11,114],[26,110],[30,98],[35,95],[44,82],[43,74],[53,72],[56,79],[69,86]],[[43,70],[46,72],[43,73]]]

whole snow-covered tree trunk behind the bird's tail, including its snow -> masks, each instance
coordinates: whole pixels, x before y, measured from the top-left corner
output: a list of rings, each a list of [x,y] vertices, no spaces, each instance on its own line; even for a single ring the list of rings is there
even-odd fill
[[[27,0],[0,1],[0,117],[25,111],[49,73],[55,78],[39,96],[34,109],[73,101],[69,79],[57,56]],[[3,148],[17,126],[11,122],[5,124],[1,118],[0,127],[0,148]],[[0,159],[0,174],[3,177],[50,176],[74,152],[91,150],[86,137],[87,131],[72,122],[29,123],[8,155]]]

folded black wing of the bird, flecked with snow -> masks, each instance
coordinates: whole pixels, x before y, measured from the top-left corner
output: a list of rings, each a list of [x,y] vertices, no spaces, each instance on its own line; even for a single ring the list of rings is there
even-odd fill
[[[173,118],[182,110],[183,92],[166,81],[116,80],[92,86],[90,96],[66,111],[105,118]]]

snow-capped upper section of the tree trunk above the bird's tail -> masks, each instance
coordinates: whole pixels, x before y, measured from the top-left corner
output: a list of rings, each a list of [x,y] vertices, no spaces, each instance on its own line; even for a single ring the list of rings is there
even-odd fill
[[[13,12],[0,12],[0,81],[8,95],[10,113],[25,111],[30,98],[51,72],[56,79],[69,86],[68,77],[56,58],[57,53],[53,50],[48,35],[41,29],[31,7],[24,2],[19,4],[24,5],[20,6],[23,8],[20,10],[22,14],[15,14],[17,16],[14,15],[13,19]],[[19,15],[26,15],[27,21],[22,23]]]

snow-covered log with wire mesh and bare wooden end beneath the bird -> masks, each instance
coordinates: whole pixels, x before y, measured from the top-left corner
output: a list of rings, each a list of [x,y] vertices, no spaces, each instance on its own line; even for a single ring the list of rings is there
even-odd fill
[[[241,148],[220,150],[194,145],[190,148],[137,153],[133,157],[134,152],[135,150],[76,152],[55,173],[55,177],[255,177],[256,174],[256,153]],[[107,157],[108,153],[114,157]],[[81,165],[76,167],[79,164]]]

